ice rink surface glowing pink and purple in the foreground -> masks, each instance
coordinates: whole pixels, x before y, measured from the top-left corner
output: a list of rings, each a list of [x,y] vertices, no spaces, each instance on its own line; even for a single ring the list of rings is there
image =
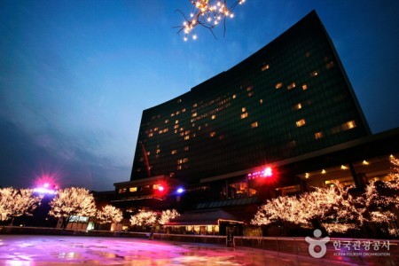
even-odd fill
[[[25,244],[20,245],[22,242]],[[148,239],[3,235],[2,244],[0,265],[12,266],[317,264],[295,255],[281,256],[255,249]]]

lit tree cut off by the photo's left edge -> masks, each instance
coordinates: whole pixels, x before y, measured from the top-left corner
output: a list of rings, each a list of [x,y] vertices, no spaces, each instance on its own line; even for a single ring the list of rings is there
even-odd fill
[[[17,216],[32,215],[40,200],[31,189],[0,188],[0,221],[12,218],[13,222]]]

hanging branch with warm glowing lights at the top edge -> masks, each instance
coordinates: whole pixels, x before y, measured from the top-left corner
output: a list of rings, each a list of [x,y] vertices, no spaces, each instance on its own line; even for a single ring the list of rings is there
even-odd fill
[[[239,0],[229,8],[227,7],[227,0],[190,0],[190,3],[194,6],[193,11],[189,18],[181,12],[184,17],[184,23],[183,26],[179,26],[178,33],[184,32],[184,41],[187,41],[189,36],[196,40],[198,36],[195,34],[194,29],[197,26],[202,26],[207,27],[214,35],[212,29],[219,25],[222,20],[225,22],[226,18],[234,18],[234,13],[232,12],[234,7],[245,2],[246,0]],[[177,10],[177,12],[180,11]]]

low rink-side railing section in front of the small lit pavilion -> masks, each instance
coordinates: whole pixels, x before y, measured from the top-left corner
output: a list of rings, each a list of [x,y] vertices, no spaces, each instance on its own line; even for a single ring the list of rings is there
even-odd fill
[[[164,234],[154,233],[153,239],[176,241],[176,242],[191,242],[203,244],[226,245],[226,236],[211,236],[211,235],[184,235],[184,234]]]

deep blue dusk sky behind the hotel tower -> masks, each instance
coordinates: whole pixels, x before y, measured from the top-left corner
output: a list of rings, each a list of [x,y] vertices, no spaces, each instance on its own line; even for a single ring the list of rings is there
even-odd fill
[[[227,1],[233,3],[231,0]],[[144,109],[246,59],[312,10],[373,133],[399,126],[399,1],[246,0],[177,28],[188,0],[0,1],[0,186],[113,190],[129,181]]]

